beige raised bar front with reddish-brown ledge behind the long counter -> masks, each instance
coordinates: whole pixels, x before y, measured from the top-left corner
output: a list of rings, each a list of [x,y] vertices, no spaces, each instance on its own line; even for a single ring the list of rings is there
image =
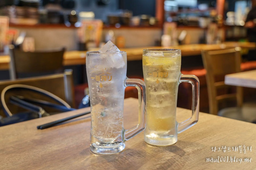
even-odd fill
[[[78,43],[78,27],[67,27],[64,24],[36,24],[36,25],[20,25],[10,24],[10,29],[16,29],[26,32],[26,37],[33,37],[35,40],[36,50],[52,50],[61,47],[66,47],[68,51],[79,49]],[[105,40],[108,32],[112,30],[114,36],[122,36],[126,48],[137,47],[152,47],[159,45],[161,36],[163,34],[163,27],[161,26],[113,26],[103,25],[102,40]],[[186,41],[182,44],[201,44],[205,43],[207,28],[198,26],[177,26],[177,35],[182,31],[187,32]],[[246,36],[236,35],[233,27],[222,26],[218,28],[218,35],[221,41],[238,41],[241,38],[245,39]],[[239,31],[243,32],[243,31]],[[232,38],[231,38],[232,37]],[[240,38],[240,39],[239,39]]]

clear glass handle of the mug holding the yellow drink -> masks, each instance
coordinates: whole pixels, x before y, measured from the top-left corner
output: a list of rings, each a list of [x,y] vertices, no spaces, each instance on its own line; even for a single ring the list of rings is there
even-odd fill
[[[192,84],[192,116],[189,119],[178,123],[178,133],[181,133],[189,127],[195,125],[199,117],[199,80],[195,75],[181,74],[180,83],[182,82]]]

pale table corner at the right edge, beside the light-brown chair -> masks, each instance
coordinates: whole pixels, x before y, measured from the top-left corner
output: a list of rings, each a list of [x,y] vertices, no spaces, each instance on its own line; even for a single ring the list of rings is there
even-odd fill
[[[227,74],[225,84],[256,88],[256,70]]]

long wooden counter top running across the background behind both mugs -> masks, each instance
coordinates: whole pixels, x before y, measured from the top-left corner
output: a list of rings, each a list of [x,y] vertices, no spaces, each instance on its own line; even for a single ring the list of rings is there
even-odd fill
[[[201,50],[218,50],[225,48],[241,47],[254,49],[255,43],[248,42],[224,42],[222,44],[189,44],[171,46],[169,48],[180,49],[182,56],[201,55]],[[162,47],[140,47],[140,48],[122,48],[120,50],[127,52],[127,61],[142,60],[143,49],[161,49]],[[64,53],[64,65],[82,65],[86,63],[86,51],[67,51]],[[9,69],[10,56],[0,56],[0,70]]]

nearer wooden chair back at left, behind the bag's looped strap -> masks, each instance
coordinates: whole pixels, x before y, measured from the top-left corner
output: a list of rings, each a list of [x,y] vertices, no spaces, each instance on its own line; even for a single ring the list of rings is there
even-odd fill
[[[0,81],[0,93],[5,87],[12,84],[25,84],[25,85],[44,89],[60,97],[62,100],[67,102],[71,107],[74,107],[73,77],[72,77],[72,70],[70,69],[64,70],[64,73],[60,73],[60,74],[52,74],[52,75],[33,77],[33,78],[22,78],[22,79],[17,79],[15,81]],[[8,101],[9,97],[11,95],[14,95],[14,93],[15,95],[19,94],[25,97],[32,97],[32,98],[49,101],[49,98],[43,95],[36,95],[35,93],[33,92],[30,93],[29,91],[20,92],[18,90],[14,92],[11,91],[10,93],[6,94],[5,96],[6,101]],[[53,102],[53,101],[50,101],[50,102]],[[15,105],[12,105],[10,103],[7,103],[7,106],[12,113],[17,113],[23,110],[20,107],[16,107]],[[2,109],[0,109],[0,116],[5,117],[5,114],[3,113]]]

